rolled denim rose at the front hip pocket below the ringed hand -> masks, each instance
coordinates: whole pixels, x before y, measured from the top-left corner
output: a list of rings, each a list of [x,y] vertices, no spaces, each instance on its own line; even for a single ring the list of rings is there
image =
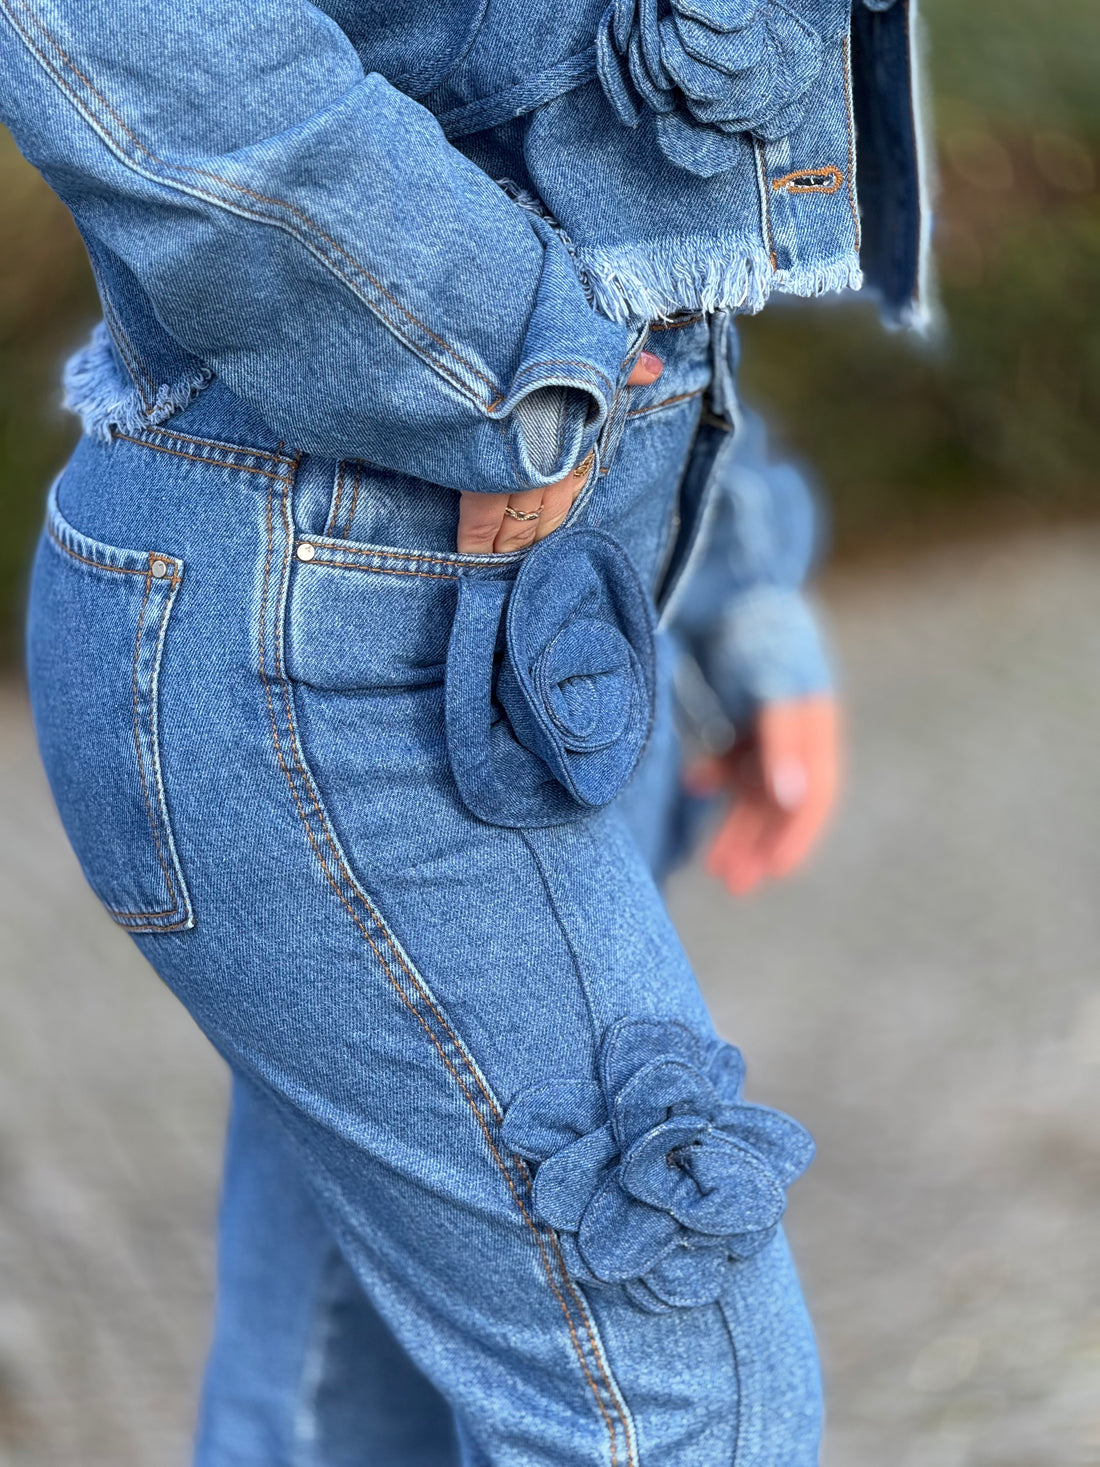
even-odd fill
[[[609,804],[653,722],[653,612],[597,530],[559,530],[515,582],[465,577],[447,648],[447,753],[493,824],[556,824]]]

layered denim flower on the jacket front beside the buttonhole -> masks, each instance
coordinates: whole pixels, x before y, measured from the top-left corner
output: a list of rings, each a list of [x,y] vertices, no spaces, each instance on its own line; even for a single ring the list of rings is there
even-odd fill
[[[651,109],[664,156],[704,178],[738,166],[736,133],[793,132],[821,62],[817,31],[779,0],[612,0],[597,34],[619,120]]]

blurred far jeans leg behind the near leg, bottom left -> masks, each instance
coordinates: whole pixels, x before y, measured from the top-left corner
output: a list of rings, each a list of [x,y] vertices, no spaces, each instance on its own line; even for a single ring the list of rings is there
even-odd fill
[[[371,1307],[235,1077],[195,1467],[456,1467],[450,1407]]]

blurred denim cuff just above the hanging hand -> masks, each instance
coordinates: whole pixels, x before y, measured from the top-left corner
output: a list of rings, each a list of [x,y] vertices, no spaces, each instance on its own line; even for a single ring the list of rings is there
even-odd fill
[[[821,628],[801,591],[755,587],[735,597],[701,653],[704,676],[735,725],[764,703],[833,688]]]

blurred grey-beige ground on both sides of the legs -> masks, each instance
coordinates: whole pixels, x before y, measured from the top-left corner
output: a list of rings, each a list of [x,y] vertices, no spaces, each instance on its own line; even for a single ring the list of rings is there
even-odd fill
[[[1100,531],[827,593],[855,770],[745,907],[673,905],[792,1200],[829,1467],[1100,1464]],[[0,1463],[182,1467],[224,1084],[98,911],[0,703]]]

